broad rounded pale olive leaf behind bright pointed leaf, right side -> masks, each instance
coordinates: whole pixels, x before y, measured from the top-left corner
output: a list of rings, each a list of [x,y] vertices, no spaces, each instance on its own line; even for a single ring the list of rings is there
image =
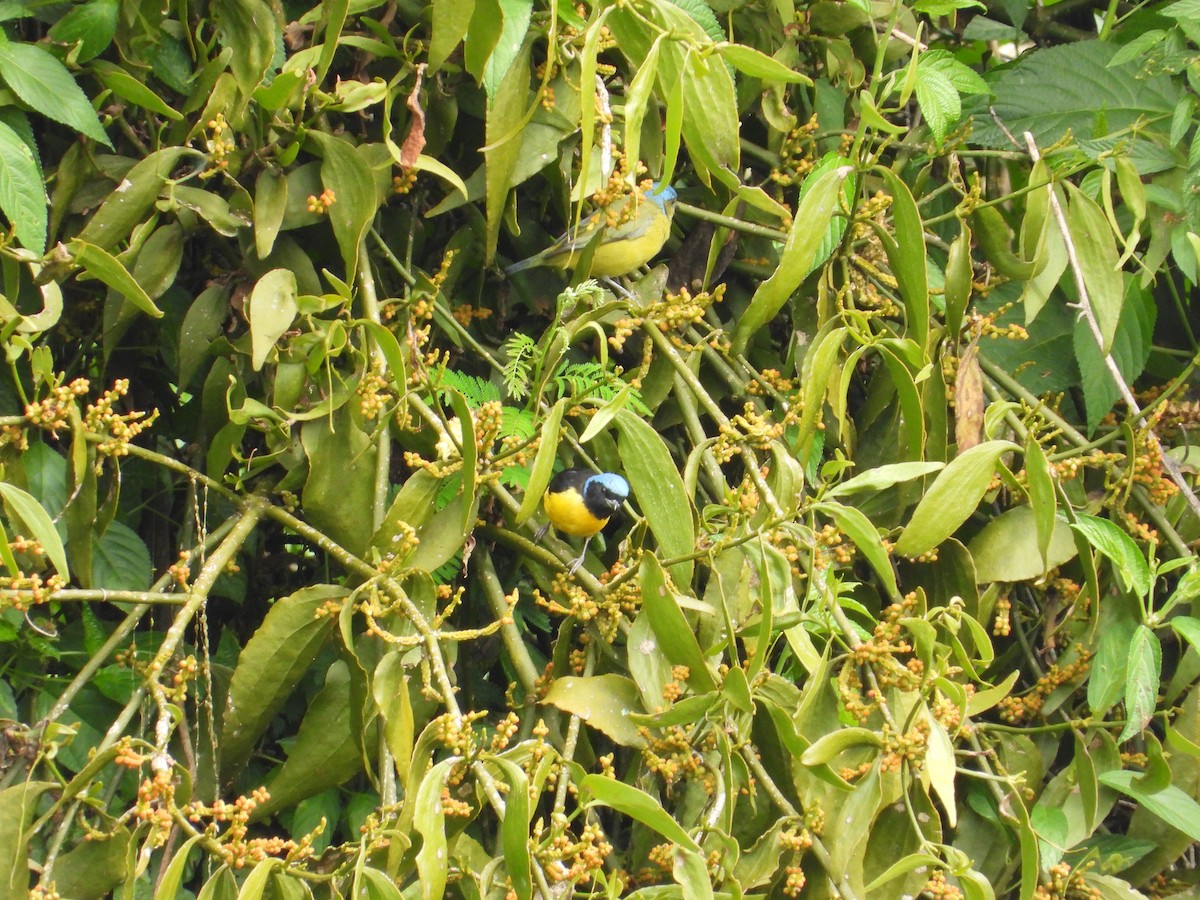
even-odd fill
[[[1039,552],[1038,514],[1032,506],[1015,506],[983,527],[967,550],[974,560],[976,581],[1030,581],[1075,558],[1075,540],[1061,518],[1051,520],[1045,556]]]

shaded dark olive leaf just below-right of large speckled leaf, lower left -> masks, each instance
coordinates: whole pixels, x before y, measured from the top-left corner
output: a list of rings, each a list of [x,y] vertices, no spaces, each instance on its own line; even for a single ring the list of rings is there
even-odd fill
[[[266,790],[270,799],[259,804],[253,820],[289,809],[306,797],[313,797],[361,772],[362,762],[354,739],[350,707],[350,670],[338,660],[325,673],[325,686],[305,710],[295,742],[288,746],[288,758]],[[373,733],[374,728],[366,728]],[[364,738],[371,744],[370,738]]]

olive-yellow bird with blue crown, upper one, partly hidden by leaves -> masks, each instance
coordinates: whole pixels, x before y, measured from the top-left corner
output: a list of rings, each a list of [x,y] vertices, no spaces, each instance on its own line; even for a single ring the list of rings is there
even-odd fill
[[[650,262],[667,242],[677,197],[671,185],[655,181],[649,191],[637,198],[636,209],[630,211],[629,204],[634,202],[634,194],[624,194],[581,221],[546,250],[514,263],[504,274],[512,275],[535,265],[574,268],[596,232],[602,230],[600,242],[592,254],[589,274],[596,278],[629,275]]]

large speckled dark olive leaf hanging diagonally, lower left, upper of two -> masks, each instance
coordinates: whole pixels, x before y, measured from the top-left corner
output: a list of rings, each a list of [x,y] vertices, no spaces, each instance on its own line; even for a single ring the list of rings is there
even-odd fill
[[[220,743],[226,779],[241,768],[325,643],[334,618],[318,617],[317,611],[348,593],[342,587],[314,584],[277,600],[268,611],[238,658],[229,683]]]

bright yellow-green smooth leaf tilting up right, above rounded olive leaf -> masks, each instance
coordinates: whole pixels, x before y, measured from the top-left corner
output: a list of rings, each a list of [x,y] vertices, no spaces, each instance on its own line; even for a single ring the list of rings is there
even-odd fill
[[[1016,449],[1007,440],[988,440],[955,457],[917,504],[895,552],[917,557],[954,534],[983,499],[1001,455]]]

